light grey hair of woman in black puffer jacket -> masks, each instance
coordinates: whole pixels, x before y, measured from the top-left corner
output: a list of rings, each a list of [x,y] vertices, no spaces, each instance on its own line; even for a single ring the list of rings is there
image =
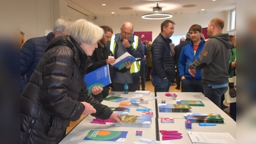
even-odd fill
[[[102,28],[85,19],[76,20],[70,28],[70,36],[72,36],[79,45],[83,42],[90,45],[96,44],[103,35],[104,30]]]

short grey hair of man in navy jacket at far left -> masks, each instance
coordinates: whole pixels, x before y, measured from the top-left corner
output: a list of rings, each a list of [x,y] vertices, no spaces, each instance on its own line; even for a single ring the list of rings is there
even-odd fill
[[[65,33],[67,29],[70,28],[70,26],[73,24],[73,20],[69,17],[60,17],[60,19],[56,20],[52,33],[55,33],[55,31],[60,31],[61,33]]]

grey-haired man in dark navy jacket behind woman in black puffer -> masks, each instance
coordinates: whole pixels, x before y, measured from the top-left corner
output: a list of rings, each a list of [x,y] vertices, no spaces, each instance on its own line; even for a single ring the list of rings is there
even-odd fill
[[[50,40],[57,36],[69,35],[70,26],[73,20],[68,17],[61,17],[56,20],[53,30],[47,36],[30,38],[20,49],[20,94],[33,74],[36,65],[44,56],[45,48]],[[25,78],[26,75],[26,78]]]

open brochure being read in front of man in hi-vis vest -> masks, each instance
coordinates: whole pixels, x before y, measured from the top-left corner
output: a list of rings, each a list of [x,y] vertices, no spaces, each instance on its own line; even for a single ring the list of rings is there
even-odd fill
[[[126,61],[130,61],[130,63],[136,61],[136,60],[140,60],[141,58],[134,58],[131,54],[129,54],[128,52],[125,52],[122,56],[120,56],[119,58],[116,59],[115,63],[110,63],[113,67],[118,68],[119,70],[121,70],[122,68],[125,67],[124,63]]]

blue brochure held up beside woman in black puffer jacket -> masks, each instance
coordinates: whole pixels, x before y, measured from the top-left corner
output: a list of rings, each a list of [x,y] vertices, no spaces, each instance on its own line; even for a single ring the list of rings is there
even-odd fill
[[[94,86],[100,86],[102,88],[108,86],[108,84],[111,84],[109,65],[105,65],[84,75],[84,81],[86,82],[89,93],[92,93]]]

